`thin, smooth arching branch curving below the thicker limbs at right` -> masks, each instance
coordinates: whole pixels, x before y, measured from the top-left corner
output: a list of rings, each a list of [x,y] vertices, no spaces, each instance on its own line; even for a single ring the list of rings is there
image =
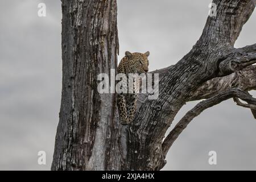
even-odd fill
[[[193,109],[188,111],[183,118],[177,123],[174,129],[168,134],[164,139],[162,144],[163,155],[166,156],[168,150],[180,135],[180,133],[188,126],[188,124],[195,118],[197,115],[202,113],[205,109],[212,107],[214,105],[220,104],[220,102],[228,100],[229,98],[237,97],[243,101],[246,101],[250,106],[256,107],[256,98],[253,98],[249,93],[241,89],[229,89],[225,92],[219,93],[216,96],[208,98],[207,100],[199,102]]]

